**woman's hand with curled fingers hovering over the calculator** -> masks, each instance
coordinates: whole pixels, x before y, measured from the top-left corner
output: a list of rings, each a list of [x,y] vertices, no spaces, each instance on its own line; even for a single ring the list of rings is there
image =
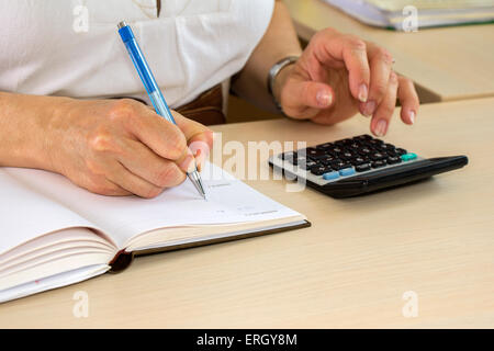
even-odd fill
[[[280,72],[274,94],[293,118],[334,124],[360,112],[372,117],[372,133],[383,136],[396,98],[406,124],[414,123],[419,104],[412,81],[392,66],[385,49],[327,29],[314,35],[295,65]]]

